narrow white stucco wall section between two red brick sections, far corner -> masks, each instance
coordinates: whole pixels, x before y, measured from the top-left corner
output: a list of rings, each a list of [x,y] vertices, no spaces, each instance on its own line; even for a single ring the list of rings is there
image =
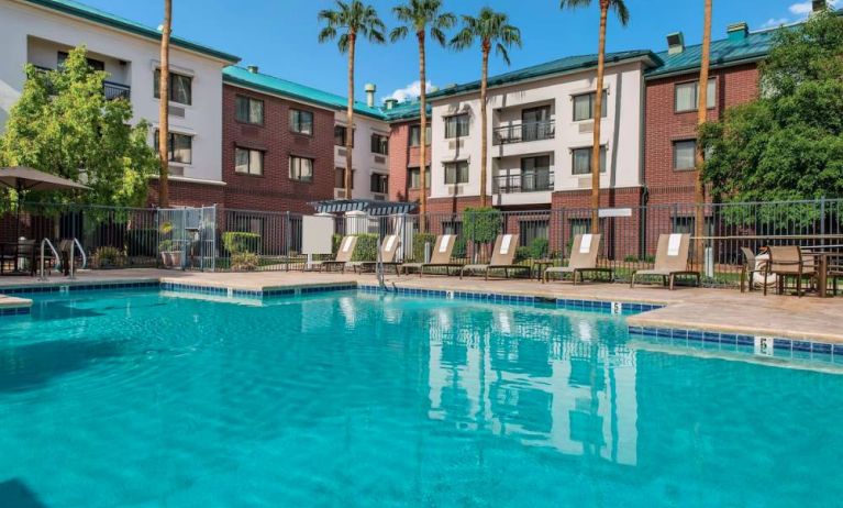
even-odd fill
[[[334,113],[337,125],[346,125],[347,117],[345,111]],[[389,136],[389,124],[379,120],[354,115],[354,151],[352,152],[352,164],[354,165],[354,189],[352,197],[354,199],[373,199],[370,176],[373,173],[389,175],[389,155],[380,155],[371,152],[371,134]],[[334,146],[334,166],[345,167],[344,147]],[[388,196],[388,191],[385,195]]]

